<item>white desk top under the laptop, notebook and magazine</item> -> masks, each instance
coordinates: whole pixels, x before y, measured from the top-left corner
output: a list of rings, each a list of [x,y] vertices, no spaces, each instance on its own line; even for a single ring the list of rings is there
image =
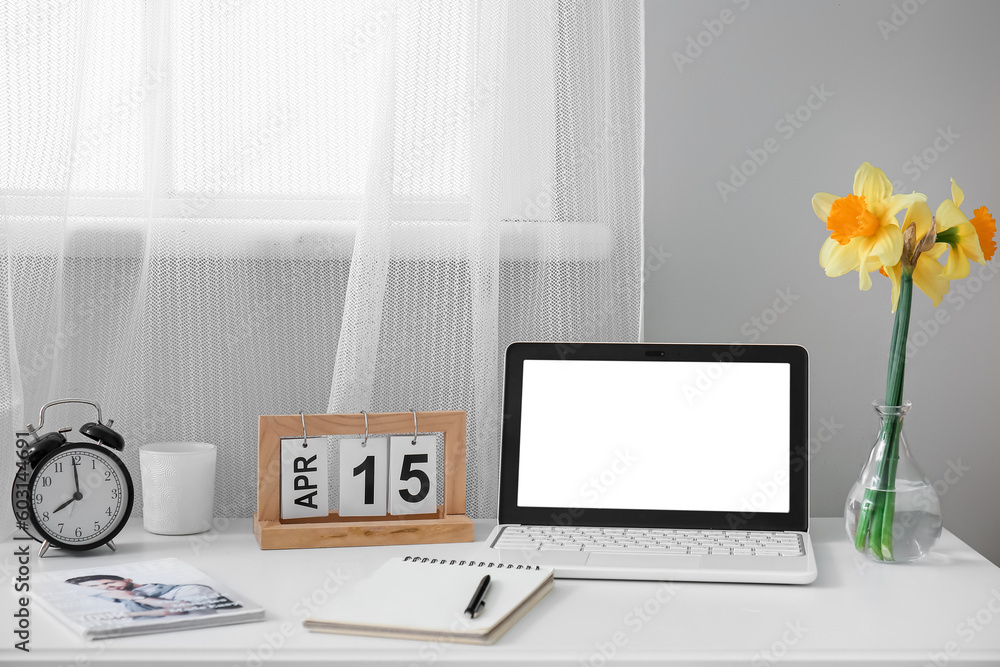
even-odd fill
[[[841,519],[816,519],[819,578],[809,586],[560,579],[497,644],[481,647],[314,634],[301,620],[338,579],[360,579],[390,555],[488,556],[491,522],[477,522],[474,544],[261,551],[248,519],[219,521],[216,532],[160,537],[133,519],[117,553],[39,559],[37,544],[16,544],[32,545],[33,573],[176,556],[262,604],[264,622],[87,642],[32,607],[25,654],[13,649],[6,583],[0,663],[1000,665],[1000,569],[947,531],[924,562],[875,565],[854,552]],[[3,545],[5,579],[17,570],[14,544]]]

